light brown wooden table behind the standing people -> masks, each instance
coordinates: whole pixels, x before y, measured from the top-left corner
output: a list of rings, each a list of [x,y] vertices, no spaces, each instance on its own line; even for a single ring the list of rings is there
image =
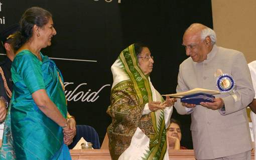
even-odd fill
[[[74,149],[70,150],[73,160],[110,160],[108,149]],[[195,160],[194,150],[169,150],[170,160]],[[254,151],[251,152],[251,159],[254,160]]]

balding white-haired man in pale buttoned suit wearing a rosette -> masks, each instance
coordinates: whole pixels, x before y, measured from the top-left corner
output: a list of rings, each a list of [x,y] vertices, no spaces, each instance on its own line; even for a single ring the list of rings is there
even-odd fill
[[[243,53],[215,42],[215,32],[203,24],[193,23],[186,29],[183,45],[190,57],[180,64],[176,91],[197,87],[216,90],[216,79],[225,73],[236,86],[230,92],[215,94],[213,102],[195,105],[177,99],[174,106],[180,114],[191,113],[197,159],[249,160],[251,138],[245,108],[254,97],[249,68]]]

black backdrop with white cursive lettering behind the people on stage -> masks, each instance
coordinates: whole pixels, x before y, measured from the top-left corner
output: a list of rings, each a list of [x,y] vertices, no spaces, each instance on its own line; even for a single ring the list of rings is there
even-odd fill
[[[211,0],[0,0],[0,30],[17,23],[31,6],[53,14],[57,35],[43,54],[54,59],[66,84],[68,110],[77,124],[93,126],[102,142],[111,119],[106,114],[112,84],[110,66],[120,51],[136,41],[154,55],[151,74],[162,94],[174,93],[179,64],[187,58],[184,30],[194,22],[212,27]],[[5,22],[3,22],[5,19]],[[4,56],[0,56],[4,58]],[[67,83],[68,82],[68,83]],[[190,115],[172,117],[182,123],[182,145],[192,148]]]

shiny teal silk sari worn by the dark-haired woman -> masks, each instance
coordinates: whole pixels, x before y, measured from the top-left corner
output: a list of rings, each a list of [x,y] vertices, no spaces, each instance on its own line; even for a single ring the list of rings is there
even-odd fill
[[[33,92],[46,89],[66,118],[63,77],[48,56],[41,57],[42,61],[29,50],[22,50],[13,61],[14,89],[5,121],[1,159],[71,159],[62,128],[32,98]]]

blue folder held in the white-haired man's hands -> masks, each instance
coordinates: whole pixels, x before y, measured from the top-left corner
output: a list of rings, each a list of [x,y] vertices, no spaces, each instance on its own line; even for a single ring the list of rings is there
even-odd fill
[[[181,97],[180,101],[199,105],[200,102],[213,102],[215,96],[206,93],[195,93]]]

